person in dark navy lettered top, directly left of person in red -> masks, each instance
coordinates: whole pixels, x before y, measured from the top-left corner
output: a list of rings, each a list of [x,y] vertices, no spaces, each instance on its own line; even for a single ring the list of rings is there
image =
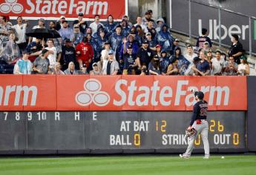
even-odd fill
[[[76,69],[79,69],[79,65],[76,62],[76,50],[70,39],[66,39],[64,46],[62,46],[62,70],[68,69],[70,62],[73,62],[76,65]]]

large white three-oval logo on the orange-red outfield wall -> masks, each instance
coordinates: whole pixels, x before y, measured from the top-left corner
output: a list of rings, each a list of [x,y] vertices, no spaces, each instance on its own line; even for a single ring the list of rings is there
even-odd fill
[[[76,93],[76,103],[81,106],[91,105],[93,102],[97,106],[108,105],[111,97],[108,93],[100,91],[102,84],[97,79],[88,79],[85,81],[84,89]]]

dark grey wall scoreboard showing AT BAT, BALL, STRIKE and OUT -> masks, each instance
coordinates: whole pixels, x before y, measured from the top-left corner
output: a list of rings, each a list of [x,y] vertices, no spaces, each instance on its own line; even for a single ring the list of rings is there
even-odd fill
[[[0,151],[186,149],[191,112],[0,112]],[[209,111],[209,145],[246,148],[243,111]],[[200,135],[195,148],[203,148]]]

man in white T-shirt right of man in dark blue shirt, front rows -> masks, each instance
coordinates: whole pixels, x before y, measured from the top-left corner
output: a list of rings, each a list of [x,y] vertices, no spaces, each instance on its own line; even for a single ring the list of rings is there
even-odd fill
[[[215,58],[211,59],[212,62],[212,72],[211,75],[221,76],[223,74],[223,69],[225,66],[225,60],[220,57],[220,50],[215,53]]]

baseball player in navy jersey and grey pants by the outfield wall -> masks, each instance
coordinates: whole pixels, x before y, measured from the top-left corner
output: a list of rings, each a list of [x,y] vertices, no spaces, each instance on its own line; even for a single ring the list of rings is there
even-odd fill
[[[194,92],[194,91],[192,91]],[[204,94],[201,91],[194,92],[195,99],[197,103],[194,105],[193,116],[189,127],[187,128],[188,132],[192,132],[190,141],[188,142],[188,148],[186,153],[180,154],[181,158],[188,159],[191,156],[191,153],[194,149],[194,139],[197,138],[198,134],[201,134],[203,139],[203,146],[205,151],[205,156],[203,159],[209,159],[209,141],[208,141],[208,130],[209,125],[206,121],[208,104],[203,100]],[[194,132],[193,132],[194,131]],[[194,134],[193,134],[194,133]]]

